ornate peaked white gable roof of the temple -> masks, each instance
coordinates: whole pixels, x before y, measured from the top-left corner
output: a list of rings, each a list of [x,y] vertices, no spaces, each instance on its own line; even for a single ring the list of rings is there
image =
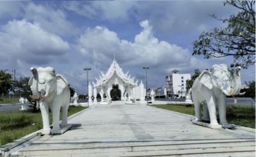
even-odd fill
[[[108,81],[113,77],[113,75],[117,75],[120,79],[124,81],[125,84],[129,84],[130,86],[137,86],[138,80],[134,82],[134,77],[131,78],[131,75],[128,75],[129,71],[127,73],[124,73],[122,71],[122,68],[118,65],[116,62],[116,59],[114,57],[113,62],[111,66],[109,67],[107,73],[102,73],[99,79],[95,78],[97,80],[95,87],[103,86],[104,84],[107,84]]]

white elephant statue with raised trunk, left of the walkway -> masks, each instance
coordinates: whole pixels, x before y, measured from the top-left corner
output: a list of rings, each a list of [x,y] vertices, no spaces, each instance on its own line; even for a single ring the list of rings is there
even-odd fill
[[[67,126],[67,112],[70,100],[70,90],[67,80],[61,75],[55,75],[52,67],[33,68],[33,75],[29,79],[29,86],[33,93],[32,100],[39,101],[40,110],[44,128],[42,133],[51,133],[49,124],[49,107],[52,112],[52,133],[58,132],[60,128],[60,110],[61,110],[61,127]]]

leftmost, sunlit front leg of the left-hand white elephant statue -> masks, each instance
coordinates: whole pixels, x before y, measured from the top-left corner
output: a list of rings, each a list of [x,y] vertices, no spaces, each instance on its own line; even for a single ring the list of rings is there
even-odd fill
[[[46,103],[39,103],[40,105],[40,110],[42,114],[42,119],[43,119],[43,134],[49,134],[51,131],[50,128],[50,120],[49,120],[49,105]]]

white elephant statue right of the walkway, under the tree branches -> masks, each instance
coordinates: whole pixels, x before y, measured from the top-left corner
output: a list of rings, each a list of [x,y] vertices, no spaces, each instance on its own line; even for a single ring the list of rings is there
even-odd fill
[[[240,66],[228,70],[227,64],[214,64],[211,70],[203,71],[191,87],[191,94],[195,105],[195,121],[210,121],[210,128],[228,126],[226,119],[226,96],[240,93],[241,77]],[[204,105],[204,116],[201,119],[200,105]],[[216,118],[218,104],[220,124]]]

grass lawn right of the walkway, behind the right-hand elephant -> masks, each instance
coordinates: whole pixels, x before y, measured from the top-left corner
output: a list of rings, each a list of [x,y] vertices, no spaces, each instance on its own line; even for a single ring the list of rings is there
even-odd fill
[[[168,104],[151,106],[195,116],[194,105]],[[250,105],[227,105],[227,121],[231,124],[245,126],[248,128],[255,128],[255,107],[252,108]]]

